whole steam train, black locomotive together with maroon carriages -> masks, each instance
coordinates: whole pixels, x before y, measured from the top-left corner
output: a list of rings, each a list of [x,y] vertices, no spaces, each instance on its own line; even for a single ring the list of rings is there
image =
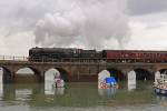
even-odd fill
[[[167,62],[167,51],[31,48],[30,62]]]

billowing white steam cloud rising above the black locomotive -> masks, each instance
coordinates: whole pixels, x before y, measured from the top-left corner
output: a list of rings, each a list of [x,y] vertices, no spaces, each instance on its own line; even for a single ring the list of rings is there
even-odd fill
[[[65,2],[66,1],[66,2]],[[84,44],[105,48],[112,40],[122,44],[129,37],[125,0],[58,0],[36,24],[36,43],[45,47]]]

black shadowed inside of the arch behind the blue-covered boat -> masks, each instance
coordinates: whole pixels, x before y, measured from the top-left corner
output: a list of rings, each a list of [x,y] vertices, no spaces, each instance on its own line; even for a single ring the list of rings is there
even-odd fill
[[[107,68],[106,70],[109,71],[110,75],[115,77],[117,81],[125,80],[125,74],[121,70],[116,68]]]

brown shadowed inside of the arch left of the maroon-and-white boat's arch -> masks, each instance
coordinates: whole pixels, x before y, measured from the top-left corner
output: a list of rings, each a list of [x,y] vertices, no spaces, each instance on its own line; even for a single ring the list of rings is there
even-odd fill
[[[30,69],[33,72],[33,74],[30,74],[30,73],[18,74],[17,73],[19,70],[24,69],[24,68]],[[29,67],[29,65],[18,68],[18,70],[16,71],[16,74],[14,74],[14,82],[31,83],[31,82],[40,82],[41,80],[42,80],[41,71],[39,71],[38,69],[36,69],[33,67]]]

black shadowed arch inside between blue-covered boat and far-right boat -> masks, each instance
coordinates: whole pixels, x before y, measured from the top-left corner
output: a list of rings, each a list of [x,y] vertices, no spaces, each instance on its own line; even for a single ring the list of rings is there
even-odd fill
[[[134,69],[136,72],[136,80],[153,80],[155,74],[144,68],[136,68]]]

